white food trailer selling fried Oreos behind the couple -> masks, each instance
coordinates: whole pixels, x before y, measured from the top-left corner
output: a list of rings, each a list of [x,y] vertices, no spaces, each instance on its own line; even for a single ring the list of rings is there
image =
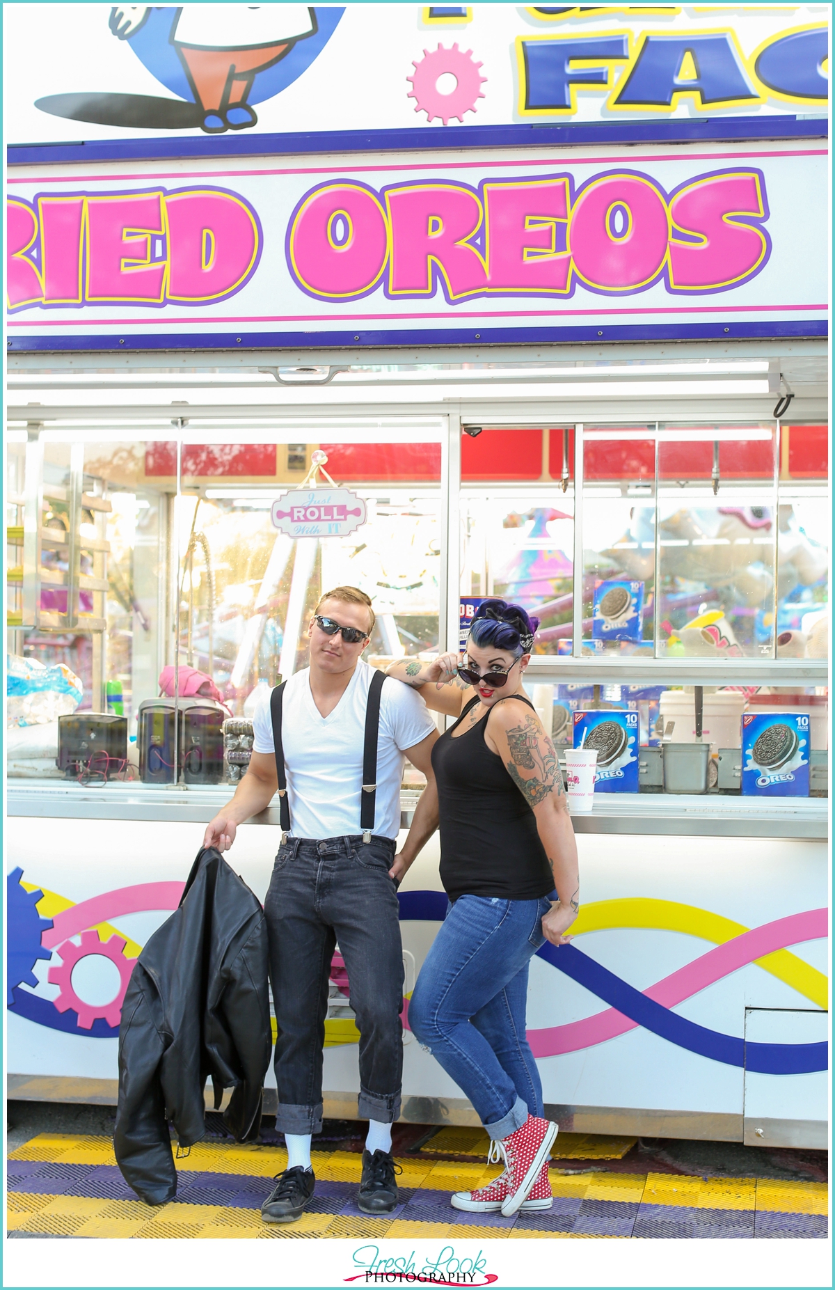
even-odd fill
[[[79,93],[30,86],[9,154],[9,1094],[116,1102],[133,961],[352,583],[380,667],[523,604],[558,751],[631,731],[532,962],[549,1113],[823,1147],[827,15],[314,6],[215,103],[174,9],[63,8]],[[260,899],[277,824],[228,857]],[[403,1018],[403,1118],[475,1122]],[[338,955],[325,1089],[356,1115]]]

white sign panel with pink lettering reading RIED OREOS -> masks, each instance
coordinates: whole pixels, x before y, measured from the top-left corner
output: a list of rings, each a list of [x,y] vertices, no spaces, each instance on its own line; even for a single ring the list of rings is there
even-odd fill
[[[223,186],[189,165],[175,188],[115,173],[13,182],[12,348],[825,326],[826,155],[813,141],[229,166]]]

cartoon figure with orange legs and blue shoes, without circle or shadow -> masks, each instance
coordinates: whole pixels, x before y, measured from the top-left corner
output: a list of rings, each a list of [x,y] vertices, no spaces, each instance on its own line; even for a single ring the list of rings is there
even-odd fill
[[[148,21],[151,9],[115,5],[111,31],[128,40]],[[255,125],[258,117],[246,102],[255,75],[316,31],[314,10],[300,4],[187,4],[178,9],[169,41],[202,108],[201,129],[223,134]]]

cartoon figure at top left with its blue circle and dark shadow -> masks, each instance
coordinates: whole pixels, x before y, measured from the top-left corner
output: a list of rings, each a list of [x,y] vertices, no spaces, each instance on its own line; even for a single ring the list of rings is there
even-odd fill
[[[85,89],[48,94],[35,107],[128,129],[247,130],[258,124],[255,104],[316,62],[344,12],[340,5],[117,4],[111,32],[174,97]]]

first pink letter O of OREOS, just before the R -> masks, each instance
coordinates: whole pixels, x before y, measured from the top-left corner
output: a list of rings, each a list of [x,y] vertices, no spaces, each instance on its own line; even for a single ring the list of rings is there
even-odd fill
[[[358,183],[317,188],[293,217],[287,248],[293,275],[305,292],[336,299],[370,292],[388,255],[379,197]]]

